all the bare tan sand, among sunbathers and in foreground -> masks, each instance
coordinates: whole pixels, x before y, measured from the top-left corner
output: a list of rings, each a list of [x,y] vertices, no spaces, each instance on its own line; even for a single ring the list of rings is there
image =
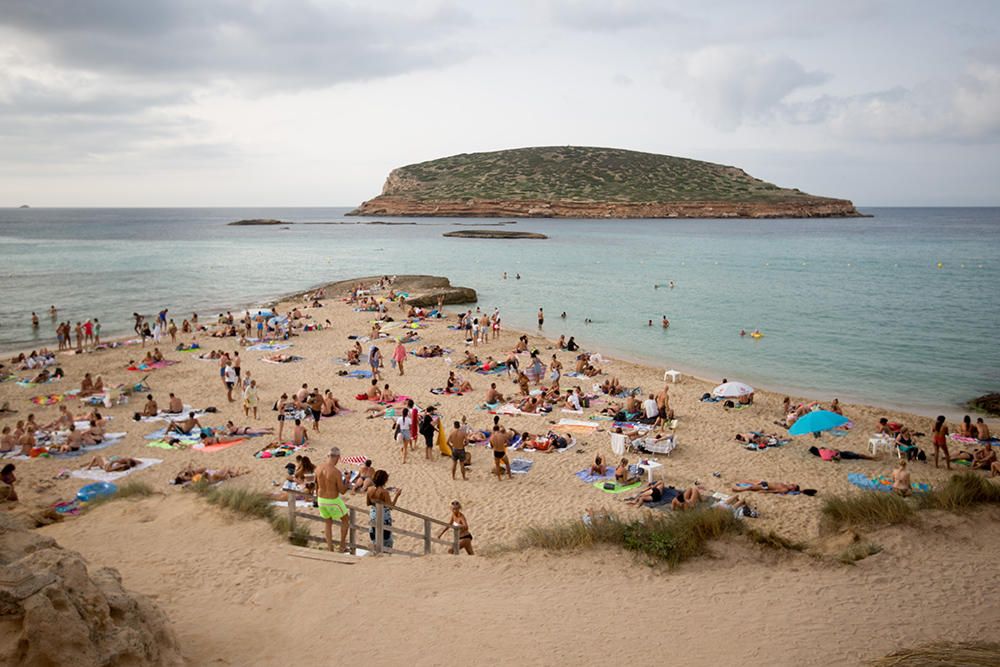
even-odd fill
[[[498,305],[502,309],[503,304]],[[489,312],[487,306],[491,310],[493,304],[483,304],[485,312]],[[279,306],[281,312],[287,307],[287,303]],[[457,312],[458,308],[447,310]],[[352,412],[324,419],[321,432],[310,433],[311,450],[304,453],[320,462],[326,450],[336,445],[344,456],[371,457],[375,468],[390,473],[389,484],[403,489],[401,507],[442,520],[448,517],[450,501],[461,500],[477,550],[494,555],[476,559],[436,556],[418,561],[362,559],[350,566],[292,558],[287,555],[289,547],[262,522],[234,520],[168,483],[190,462],[210,468],[250,468],[250,474],[225,484],[272,491],[273,483],[283,479],[289,459],[258,460],[252,456],[270,438],[250,439],[212,453],[152,449],[143,436],[162,424],[133,422],[130,416],[141,410],[143,402],[141,397],[133,397],[128,405],[101,409],[113,417],[109,431],[128,431],[128,435],[99,453],[162,459],[163,463],[128,479],[148,482],[164,495],[140,502],[112,503],[44,530],[64,546],[80,550],[95,564],[120,568],[127,587],[163,604],[177,623],[187,655],[198,664],[209,660],[274,664],[323,651],[338,658],[363,659],[375,641],[380,642],[379,655],[383,659],[417,664],[447,664],[473,658],[503,663],[576,664],[610,656],[653,664],[662,662],[666,655],[679,655],[677,647],[685,648],[680,655],[690,658],[692,664],[728,663],[739,657],[755,662],[768,659],[775,664],[856,664],[862,656],[872,655],[871,651],[884,652],[898,642],[954,638],[955,632],[971,639],[980,629],[1000,620],[995,605],[979,606],[985,604],[983,584],[1000,574],[991,555],[977,556],[987,546],[994,551],[984,554],[995,553],[1000,537],[995,521],[988,523],[988,530],[977,531],[965,524],[956,528],[968,535],[960,550],[954,549],[954,543],[949,544],[947,535],[925,530],[920,532],[919,540],[912,536],[897,539],[901,550],[919,542],[920,557],[887,549],[854,568],[831,567],[805,556],[751,557],[725,545],[718,547],[718,560],[685,564],[669,576],[606,550],[569,556],[509,552],[506,548],[526,526],[578,520],[587,508],[612,510],[624,516],[655,511],[628,508],[622,502],[622,496],[627,494],[603,493],[574,476],[589,467],[596,453],[606,459],[612,456],[607,422],[604,432],[575,433],[578,444],[566,452],[516,452],[514,456],[532,460],[534,467],[526,475],[515,475],[513,480],[498,482],[490,475],[490,454],[481,447],[470,450],[473,465],[466,482],[451,479],[450,461],[436,450],[426,461],[421,447],[419,456],[411,455],[410,462],[402,465],[398,447],[390,436],[391,422],[365,419],[363,409],[370,404],[354,399],[368,381],[337,375],[340,370],[349,370],[335,361],[345,356],[352,343],[347,336],[367,335],[372,313],[354,312],[334,298],[329,298],[323,308],[304,312],[314,321],[330,319],[333,326],[292,339],[293,347],[285,352],[303,357],[298,363],[263,363],[261,359],[267,353],[240,349],[233,338],[215,339],[202,334],[196,339],[205,350],[240,352],[244,374],[250,371],[260,386],[259,422],[243,417],[240,402],[227,403],[217,362],[199,361],[192,353],[172,351],[169,339],[160,347],[169,359],[181,363],[150,373],[146,381],[161,407],[169,391],[198,408],[218,407],[218,414],[202,418],[203,423],[212,425],[232,419],[237,424],[277,426],[271,406],[282,392],[291,394],[303,382],[321,390],[331,388]],[[393,306],[390,314],[400,317],[403,313]],[[202,314],[202,322],[208,320]],[[421,342],[408,348],[436,343],[453,348],[450,356],[457,362],[465,344],[460,332],[446,328],[453,321],[429,320],[428,328],[420,331]],[[394,335],[398,332],[390,331]],[[517,335],[504,331],[499,341],[491,340],[475,352],[480,358],[491,354],[503,359]],[[541,350],[543,360],[557,353],[565,369],[572,368],[575,355],[552,349],[554,343],[537,334],[528,335],[531,346]],[[179,336],[178,340],[187,342],[191,338]],[[588,349],[585,338],[579,342]],[[392,340],[380,345],[387,358],[393,345]],[[364,347],[367,352],[368,344]],[[16,419],[31,412],[40,423],[51,421],[57,406],[41,407],[28,399],[77,388],[84,371],[100,373],[106,385],[134,383],[144,373],[128,372],[125,367],[130,359],[139,359],[143,354],[138,346],[93,354],[60,354],[59,365],[66,371],[66,379],[35,388],[21,388],[13,382],[0,384],[0,403],[10,401],[11,407],[18,410],[18,414],[4,417],[0,423],[13,426]],[[662,368],[617,360],[603,367],[623,385],[641,386],[644,394],[658,392],[664,385]],[[476,408],[483,402],[491,381],[497,382],[506,394],[514,390],[511,381],[503,375],[465,371],[460,375],[472,383],[472,393],[431,394],[431,388],[444,386],[450,368],[442,358],[410,356],[406,375],[399,377],[387,367],[383,383],[413,397],[421,407],[438,404],[439,413],[449,425],[466,416],[472,426],[488,428],[492,415]],[[27,371],[20,373],[22,377],[27,375]],[[564,377],[562,386],[565,389],[579,384],[589,391],[603,377]],[[726,411],[721,404],[699,401],[714,384],[682,377],[669,385],[671,407],[679,419],[679,445],[669,457],[659,457],[664,467],[657,471],[657,477],[678,488],[697,481],[722,492],[743,479],[791,482],[818,489],[816,497],[747,494],[760,513],[753,525],[792,540],[817,538],[824,496],[857,491],[847,481],[849,472],[871,476],[888,472],[895,463],[894,457],[875,462],[823,462],[808,453],[810,445],[867,452],[868,438],[883,415],[915,431],[929,434],[931,430],[932,420],[927,417],[845,404],[845,414],[855,423],[848,435],[825,435],[820,440],[811,436],[794,438],[781,448],[751,452],[734,442],[734,434],[749,430],[781,433],[772,422],[781,416],[783,396],[757,392],[752,407]],[[809,397],[792,399],[807,401]],[[69,405],[74,412],[84,412],[74,399],[69,400]],[[603,405],[597,403],[587,413]],[[562,417],[585,419],[586,414],[569,415],[556,409],[547,416],[504,416],[502,423],[539,432],[555,428],[549,422]],[[929,437],[921,438],[921,446],[930,449],[929,441]],[[632,462],[635,458],[631,456]],[[72,498],[85,482],[53,478],[63,469],[81,466],[87,459],[85,455],[15,461],[22,505],[49,506],[57,499]],[[932,485],[944,482],[948,474],[943,467],[935,470],[932,464],[922,463],[914,463],[912,472],[914,481]],[[364,504],[361,496],[348,500],[358,506]],[[399,518],[397,526],[414,527]],[[416,544],[400,546],[412,549]],[[925,557],[931,554],[935,562]],[[902,578],[896,576],[898,558],[906,558]],[[967,566],[974,571],[963,571],[959,577],[957,572]],[[932,613],[953,603],[960,608],[949,610],[947,622]],[[905,610],[907,618],[926,613],[926,621],[901,622],[900,609]],[[979,613],[983,609],[988,613]],[[762,620],[772,612],[780,616],[778,622]],[[408,631],[411,628],[416,632]],[[433,629],[428,632],[429,628]],[[813,643],[820,637],[825,653]],[[793,656],[796,659],[791,659]]]

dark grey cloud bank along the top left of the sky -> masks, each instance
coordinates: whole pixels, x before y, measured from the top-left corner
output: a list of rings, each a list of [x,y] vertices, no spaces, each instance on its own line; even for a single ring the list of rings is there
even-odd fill
[[[62,67],[269,88],[451,64],[466,51],[445,38],[467,20],[447,4],[407,14],[305,0],[0,1],[0,25]]]

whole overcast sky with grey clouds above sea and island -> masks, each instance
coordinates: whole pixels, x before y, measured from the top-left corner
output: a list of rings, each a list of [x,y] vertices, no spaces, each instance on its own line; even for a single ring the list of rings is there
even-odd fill
[[[0,0],[0,206],[347,206],[562,144],[1000,205],[1000,2]]]

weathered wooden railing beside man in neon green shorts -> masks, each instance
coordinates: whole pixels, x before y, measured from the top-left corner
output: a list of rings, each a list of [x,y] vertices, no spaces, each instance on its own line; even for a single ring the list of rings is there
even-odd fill
[[[292,539],[295,533],[295,522],[299,519],[305,519],[306,521],[317,521],[319,523],[324,523],[325,519],[322,517],[311,514],[309,512],[300,512],[296,509],[296,501],[300,498],[302,500],[312,501],[315,496],[311,493],[305,491],[289,490],[284,489],[288,493],[288,537]],[[346,503],[345,503],[346,504]],[[459,528],[453,526],[450,523],[440,521],[433,517],[429,517],[418,512],[413,512],[408,509],[403,509],[402,507],[392,507],[391,510],[393,515],[403,515],[411,516],[419,519],[423,522],[423,531],[415,532],[412,530],[405,530],[399,528],[395,525],[391,527],[383,526],[383,521],[385,519],[386,507],[382,503],[375,504],[375,541],[372,542],[370,539],[364,539],[364,544],[358,543],[358,531],[364,538],[368,538],[368,529],[371,527],[369,525],[369,512],[366,509],[360,507],[353,507],[347,505],[348,512],[348,530],[347,530],[347,548],[352,554],[356,554],[358,548],[370,549],[376,554],[399,554],[401,556],[426,556],[432,553],[432,545],[440,544],[451,548],[451,552],[455,555],[458,554],[458,543],[459,543]],[[361,523],[358,522],[358,516],[361,516]],[[432,533],[432,526],[438,526],[439,528],[451,528],[451,540],[442,540],[434,537]],[[340,543],[340,524],[339,522],[334,522],[333,525],[333,541],[337,544]],[[416,551],[405,551],[403,549],[397,549],[396,547],[388,547],[385,545],[385,533],[390,532],[392,534],[393,543],[396,542],[399,537],[409,537],[420,540],[423,543],[423,553]],[[320,537],[317,535],[309,535],[306,538],[308,542],[319,542],[322,544],[326,543],[325,537]]]

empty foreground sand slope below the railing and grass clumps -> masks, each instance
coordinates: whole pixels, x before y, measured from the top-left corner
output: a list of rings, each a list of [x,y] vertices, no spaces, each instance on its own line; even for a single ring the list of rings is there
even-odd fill
[[[851,567],[721,544],[672,573],[609,550],[303,560],[263,523],[190,496],[118,501],[43,532],[154,596],[194,664],[856,665],[990,636],[995,518],[884,531],[886,550]]]

